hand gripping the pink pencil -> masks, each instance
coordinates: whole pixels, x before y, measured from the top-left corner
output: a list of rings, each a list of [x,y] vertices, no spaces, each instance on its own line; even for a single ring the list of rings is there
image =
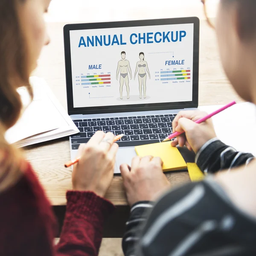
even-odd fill
[[[171,145],[180,145],[195,153],[210,139],[215,138],[212,119],[208,119],[201,124],[196,124],[195,121],[206,116],[207,113],[203,111],[180,111],[172,122],[173,132],[183,132],[175,139]]]

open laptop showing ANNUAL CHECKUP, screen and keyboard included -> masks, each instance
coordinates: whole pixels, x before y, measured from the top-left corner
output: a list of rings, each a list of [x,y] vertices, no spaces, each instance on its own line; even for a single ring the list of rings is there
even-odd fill
[[[71,158],[98,131],[125,134],[115,173],[134,146],[159,143],[181,110],[198,108],[197,17],[67,24],[68,114],[80,133]]]

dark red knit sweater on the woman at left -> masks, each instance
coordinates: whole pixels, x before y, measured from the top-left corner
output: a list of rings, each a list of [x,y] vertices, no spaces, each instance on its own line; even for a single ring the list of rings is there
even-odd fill
[[[64,226],[54,246],[55,217],[28,165],[19,182],[0,193],[0,255],[98,255],[103,223],[113,209],[113,204],[93,192],[67,192]]]

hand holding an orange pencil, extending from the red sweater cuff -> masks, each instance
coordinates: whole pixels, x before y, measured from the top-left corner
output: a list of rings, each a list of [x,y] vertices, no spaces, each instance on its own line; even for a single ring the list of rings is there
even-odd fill
[[[90,190],[104,197],[114,171],[118,145],[114,135],[97,131],[89,142],[79,147],[79,163],[74,166],[72,183],[74,190]]]

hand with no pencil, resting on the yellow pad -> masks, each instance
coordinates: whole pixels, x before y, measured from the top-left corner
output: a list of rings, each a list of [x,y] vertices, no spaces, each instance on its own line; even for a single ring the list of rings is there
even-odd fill
[[[170,187],[163,174],[163,162],[159,157],[134,157],[131,167],[120,166],[128,203],[154,201],[159,194]]]

